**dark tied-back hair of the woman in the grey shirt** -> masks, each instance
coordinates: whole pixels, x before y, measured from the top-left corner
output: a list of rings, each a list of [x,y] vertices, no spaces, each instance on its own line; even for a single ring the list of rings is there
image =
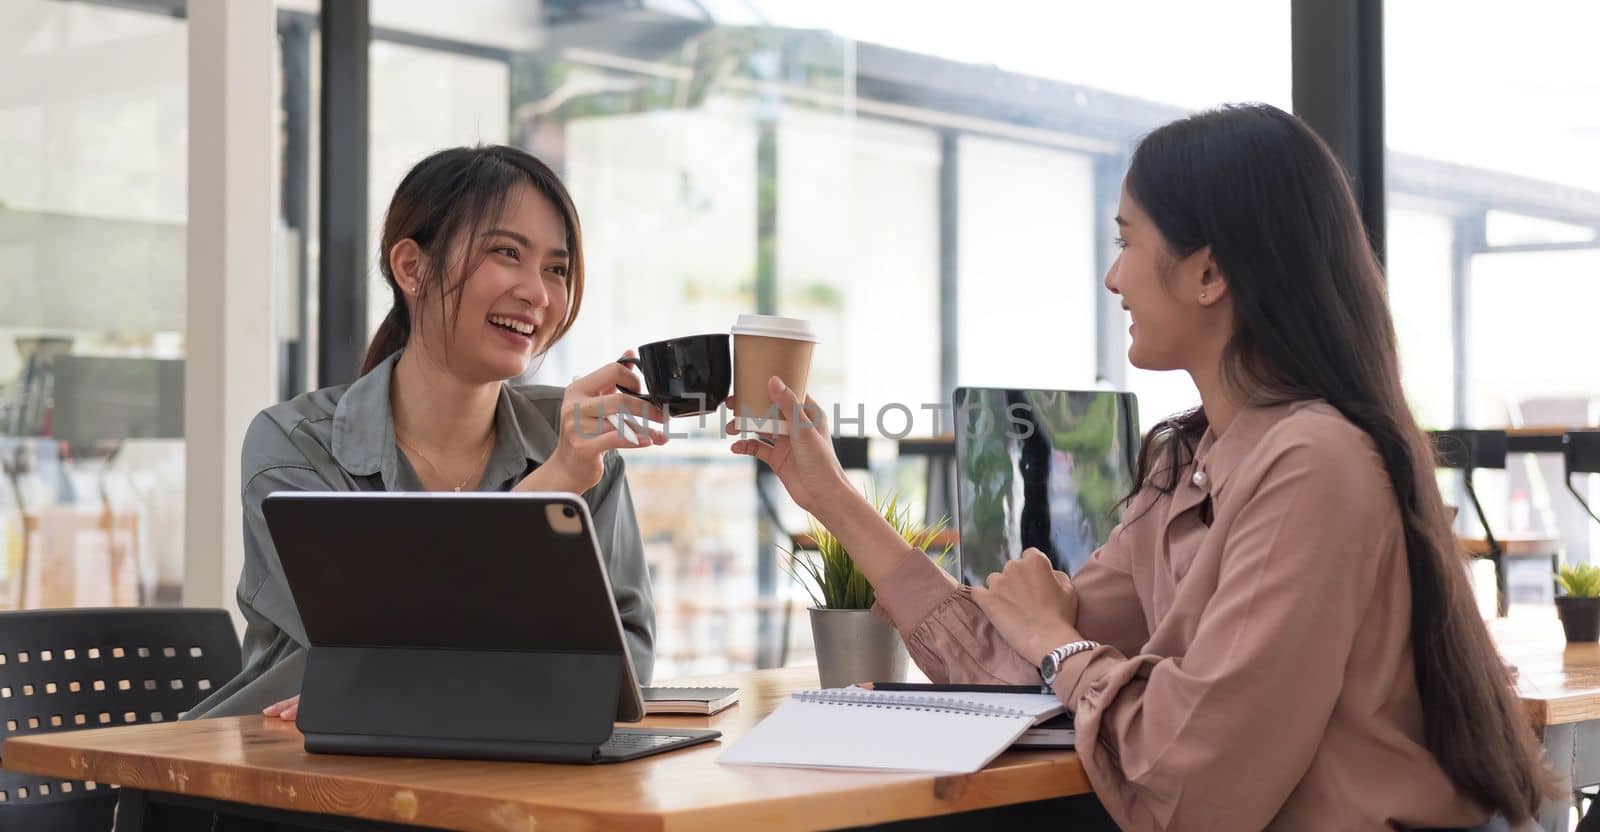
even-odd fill
[[[394,355],[411,339],[411,314],[405,306],[405,291],[395,282],[389,267],[389,251],[400,240],[413,240],[422,250],[422,280],[416,302],[430,294],[448,301],[461,294],[466,277],[474,270],[472,246],[461,246],[456,269],[446,269],[451,246],[458,238],[472,240],[483,229],[491,229],[506,210],[506,200],[517,186],[530,186],[542,194],[566,222],[568,293],[566,312],[555,326],[546,349],[573,328],[578,307],[584,299],[584,245],[578,227],[578,208],[566,194],[566,186],[544,162],[515,147],[488,144],[478,147],[451,147],[418,162],[389,200],[384,214],[384,234],[378,243],[378,269],[394,294],[389,317],[378,326],[373,342],[362,362],[365,376],[384,358]],[[453,277],[453,278],[451,278]],[[446,314],[451,304],[438,304],[440,323],[453,323]],[[459,307],[458,307],[459,309]]]

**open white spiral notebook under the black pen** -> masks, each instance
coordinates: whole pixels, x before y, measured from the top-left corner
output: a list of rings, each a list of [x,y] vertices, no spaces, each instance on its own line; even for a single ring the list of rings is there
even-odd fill
[[[1064,710],[1038,693],[798,691],[717,762],[971,773]]]

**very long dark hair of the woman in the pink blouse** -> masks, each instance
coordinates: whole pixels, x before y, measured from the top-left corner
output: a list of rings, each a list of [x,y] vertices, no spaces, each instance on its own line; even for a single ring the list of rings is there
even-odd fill
[[[1229,387],[1251,392],[1251,403],[1322,398],[1378,446],[1405,525],[1427,749],[1486,808],[1533,816],[1550,776],[1477,613],[1432,451],[1400,386],[1382,267],[1339,162],[1299,118],[1234,106],[1150,133],[1126,190],[1173,256],[1211,246],[1234,302]],[[1205,430],[1203,410],[1157,424],[1136,488],[1170,493]]]

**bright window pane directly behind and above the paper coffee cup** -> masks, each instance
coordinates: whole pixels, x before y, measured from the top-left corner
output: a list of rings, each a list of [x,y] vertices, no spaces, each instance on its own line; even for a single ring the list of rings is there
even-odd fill
[[[776,139],[779,306],[818,322],[827,344],[811,395],[861,419],[846,434],[928,435],[934,408],[922,405],[941,400],[939,136],[792,109]]]

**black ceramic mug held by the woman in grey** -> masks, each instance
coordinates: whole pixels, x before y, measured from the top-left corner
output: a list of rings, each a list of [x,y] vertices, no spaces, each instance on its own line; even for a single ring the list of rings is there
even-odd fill
[[[638,347],[638,358],[619,358],[618,363],[638,368],[646,394],[626,387],[618,390],[659,405],[669,416],[712,413],[733,387],[733,354],[726,333],[656,341]]]

